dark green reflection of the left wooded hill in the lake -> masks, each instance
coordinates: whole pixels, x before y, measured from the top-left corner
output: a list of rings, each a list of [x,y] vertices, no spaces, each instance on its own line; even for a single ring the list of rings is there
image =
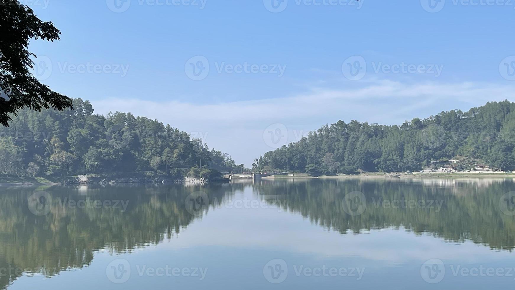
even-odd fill
[[[194,216],[186,211],[184,200],[200,190],[210,196],[210,203]],[[223,201],[224,192],[233,190],[226,184],[109,186],[107,190],[100,186],[57,186],[46,190],[52,196],[50,214],[36,216],[29,211],[27,199],[38,190],[4,189],[0,195],[0,268],[53,276],[61,270],[89,265],[98,250],[130,252],[157,244],[178,235],[195,218],[202,218]],[[128,206],[125,212],[120,204],[100,209],[63,207],[71,199],[124,200]],[[4,273],[8,275],[0,275],[0,288],[21,275],[14,270]]]

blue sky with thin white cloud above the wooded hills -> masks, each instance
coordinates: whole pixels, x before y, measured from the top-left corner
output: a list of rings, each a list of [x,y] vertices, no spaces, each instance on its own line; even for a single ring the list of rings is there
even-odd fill
[[[30,45],[50,88],[246,165],[338,120],[513,100],[513,0],[23,2],[62,32]]]

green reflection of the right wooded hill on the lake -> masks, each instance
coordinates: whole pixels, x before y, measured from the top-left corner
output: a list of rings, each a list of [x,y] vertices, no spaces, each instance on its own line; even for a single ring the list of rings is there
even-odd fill
[[[285,211],[300,213],[324,228],[340,233],[372,228],[400,228],[417,234],[431,233],[445,240],[488,245],[492,249],[515,247],[515,217],[503,214],[501,197],[515,190],[512,180],[295,180],[262,181],[256,192]],[[488,184],[488,186],[485,186]],[[341,205],[347,193],[363,192],[366,210],[352,216]],[[266,197],[268,196],[268,197]],[[383,200],[441,202],[441,208],[427,206],[392,208]]]

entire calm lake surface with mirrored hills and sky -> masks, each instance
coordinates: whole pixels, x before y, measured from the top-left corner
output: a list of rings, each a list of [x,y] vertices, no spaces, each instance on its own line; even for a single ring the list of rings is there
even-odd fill
[[[512,179],[0,188],[8,289],[515,284]]]

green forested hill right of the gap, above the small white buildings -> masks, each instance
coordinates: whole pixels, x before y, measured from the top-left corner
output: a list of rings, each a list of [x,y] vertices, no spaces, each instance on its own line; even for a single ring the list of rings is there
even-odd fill
[[[452,110],[401,126],[338,121],[254,162],[262,170],[399,172],[453,158],[515,169],[515,103]]]

